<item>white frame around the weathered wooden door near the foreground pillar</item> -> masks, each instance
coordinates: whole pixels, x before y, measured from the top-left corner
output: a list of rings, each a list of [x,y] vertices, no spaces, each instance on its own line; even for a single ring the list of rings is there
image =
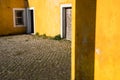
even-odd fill
[[[61,4],[60,5],[60,34],[61,34],[61,38],[64,38],[64,28],[65,28],[65,23],[64,23],[64,17],[65,17],[65,8],[71,7],[72,8],[72,4]]]

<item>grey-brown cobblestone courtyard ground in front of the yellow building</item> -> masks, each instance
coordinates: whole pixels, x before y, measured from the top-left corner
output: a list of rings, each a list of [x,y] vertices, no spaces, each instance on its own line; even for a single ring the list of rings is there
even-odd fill
[[[70,42],[0,37],[0,80],[70,80]]]

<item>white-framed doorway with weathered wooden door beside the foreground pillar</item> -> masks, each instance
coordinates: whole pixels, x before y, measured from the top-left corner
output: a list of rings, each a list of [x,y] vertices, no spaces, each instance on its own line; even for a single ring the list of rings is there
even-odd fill
[[[61,5],[61,37],[71,41],[72,38],[72,6]]]

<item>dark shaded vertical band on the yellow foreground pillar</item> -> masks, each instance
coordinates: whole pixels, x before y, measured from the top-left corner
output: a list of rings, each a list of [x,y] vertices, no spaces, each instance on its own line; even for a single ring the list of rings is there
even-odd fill
[[[75,80],[94,80],[96,0],[76,0]]]

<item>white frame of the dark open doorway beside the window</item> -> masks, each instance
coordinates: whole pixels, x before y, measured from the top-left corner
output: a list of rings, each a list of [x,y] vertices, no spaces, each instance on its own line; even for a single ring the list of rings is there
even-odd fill
[[[31,33],[31,15],[30,15],[30,10],[33,10],[33,23],[34,23],[34,33],[36,33],[36,30],[35,30],[35,10],[34,10],[34,7],[31,7],[31,8],[27,8],[27,33]]]

